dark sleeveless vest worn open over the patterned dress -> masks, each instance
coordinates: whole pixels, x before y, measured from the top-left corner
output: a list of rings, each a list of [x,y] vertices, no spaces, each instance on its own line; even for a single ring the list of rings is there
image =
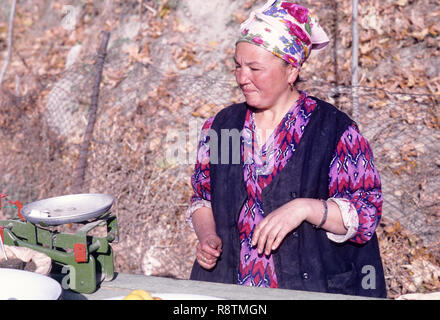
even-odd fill
[[[295,198],[329,197],[330,162],[341,135],[353,121],[334,106],[313,99],[317,106],[297,149],[283,170],[263,190],[265,214]],[[246,110],[244,103],[232,105],[220,111],[212,124],[218,143],[210,148],[217,148],[218,151],[211,151],[211,154],[215,156],[218,152],[218,161],[210,163],[211,205],[223,248],[211,270],[203,269],[195,261],[190,277],[193,280],[237,283],[240,255],[238,216],[247,192],[243,164],[234,164],[236,144],[222,139],[221,131],[241,131]],[[228,144],[229,148],[225,148]],[[228,150],[229,161],[222,163],[222,153]],[[272,254],[279,288],[386,297],[376,234],[361,245],[350,241],[335,243],[328,239],[324,230],[303,222]]]

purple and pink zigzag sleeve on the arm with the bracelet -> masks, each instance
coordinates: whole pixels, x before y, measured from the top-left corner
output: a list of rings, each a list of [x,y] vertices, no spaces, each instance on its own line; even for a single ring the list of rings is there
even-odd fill
[[[353,215],[357,214],[357,226],[352,226],[351,232],[350,226],[347,228],[349,241],[361,244],[370,240],[382,215],[381,182],[370,145],[355,125],[343,133],[334,153],[329,171],[329,195],[330,199],[338,199],[341,212],[345,210],[344,223],[349,221],[352,225],[356,221]],[[347,201],[350,205],[343,209],[343,202]]]

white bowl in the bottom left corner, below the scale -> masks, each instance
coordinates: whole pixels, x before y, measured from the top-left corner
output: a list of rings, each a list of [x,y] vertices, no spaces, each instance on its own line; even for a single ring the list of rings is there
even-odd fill
[[[38,273],[0,269],[0,300],[57,300],[61,285]]]

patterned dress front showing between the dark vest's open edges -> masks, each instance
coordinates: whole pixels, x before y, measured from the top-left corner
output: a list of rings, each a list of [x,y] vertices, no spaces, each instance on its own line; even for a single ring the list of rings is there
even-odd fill
[[[256,248],[251,245],[252,235],[255,227],[264,219],[263,189],[272,182],[292,156],[315,107],[316,102],[308,98],[307,94],[301,93],[298,101],[284,116],[261,150],[259,150],[256,139],[256,127],[252,112],[248,110],[246,114],[242,155],[243,157],[246,155],[244,180],[248,199],[238,218],[240,235],[238,284],[278,287],[272,255],[259,255]]]

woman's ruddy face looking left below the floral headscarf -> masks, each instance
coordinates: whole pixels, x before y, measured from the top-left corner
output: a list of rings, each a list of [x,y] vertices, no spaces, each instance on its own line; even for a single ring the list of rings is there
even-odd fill
[[[248,105],[270,109],[288,101],[292,70],[284,61],[269,51],[247,42],[239,42],[235,49],[235,78]]]

